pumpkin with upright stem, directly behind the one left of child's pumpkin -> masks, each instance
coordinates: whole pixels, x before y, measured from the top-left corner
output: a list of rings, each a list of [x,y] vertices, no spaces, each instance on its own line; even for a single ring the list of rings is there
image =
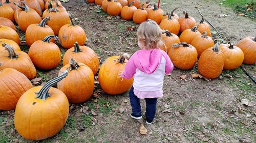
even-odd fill
[[[66,51],[63,56],[63,65],[69,64],[70,58],[75,59],[78,63],[83,63],[90,67],[95,75],[99,69],[99,58],[91,48],[87,46],[79,46],[81,52],[74,52],[75,47]]]

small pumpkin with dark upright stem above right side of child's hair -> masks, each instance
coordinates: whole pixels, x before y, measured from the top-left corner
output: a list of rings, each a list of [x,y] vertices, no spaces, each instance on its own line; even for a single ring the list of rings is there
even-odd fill
[[[159,25],[161,23],[161,20],[163,18],[163,10],[158,9],[156,5],[154,5],[153,11],[150,11],[147,15],[147,19],[155,20],[157,24]]]

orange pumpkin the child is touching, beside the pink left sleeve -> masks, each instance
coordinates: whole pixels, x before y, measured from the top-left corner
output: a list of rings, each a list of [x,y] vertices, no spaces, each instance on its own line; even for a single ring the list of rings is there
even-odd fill
[[[101,89],[110,95],[122,94],[128,91],[133,84],[133,78],[123,79],[118,78],[118,74],[124,70],[124,66],[127,63],[119,63],[120,56],[111,56],[105,60],[99,70],[99,83]]]

